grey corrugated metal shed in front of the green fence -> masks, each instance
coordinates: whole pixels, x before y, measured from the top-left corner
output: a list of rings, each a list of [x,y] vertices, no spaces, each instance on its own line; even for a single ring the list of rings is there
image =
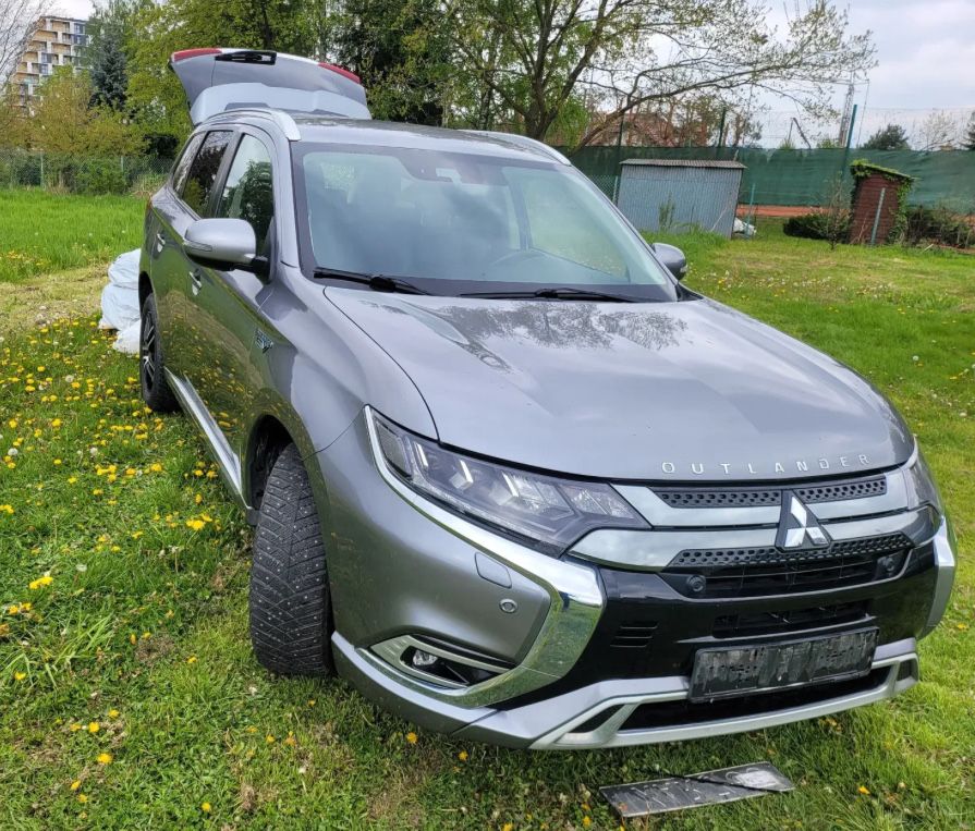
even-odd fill
[[[745,166],[698,159],[626,159],[617,204],[641,231],[702,228],[731,236]]]

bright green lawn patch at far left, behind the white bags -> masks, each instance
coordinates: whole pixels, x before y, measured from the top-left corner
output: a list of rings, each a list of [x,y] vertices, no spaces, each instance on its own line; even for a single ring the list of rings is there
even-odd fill
[[[145,200],[0,191],[0,283],[111,259],[142,243]]]

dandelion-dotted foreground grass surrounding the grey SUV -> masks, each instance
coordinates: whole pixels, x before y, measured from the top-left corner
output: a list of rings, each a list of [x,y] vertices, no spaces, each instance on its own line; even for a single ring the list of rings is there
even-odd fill
[[[118,239],[106,253],[136,242]],[[692,286],[865,372],[919,435],[962,552],[921,685],[747,735],[533,754],[414,732],[342,682],[273,679],[247,641],[251,531],[194,429],[143,408],[136,362],[94,317],[37,327],[0,304],[0,824],[617,828],[600,784],[767,759],[794,793],[666,827],[975,827],[975,258],[830,252],[775,227],[682,244]],[[627,823],[644,827],[665,823]]]

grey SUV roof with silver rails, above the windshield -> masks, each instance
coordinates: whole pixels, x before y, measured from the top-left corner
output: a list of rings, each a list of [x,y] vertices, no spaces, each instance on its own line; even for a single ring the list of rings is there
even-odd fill
[[[320,114],[284,112],[283,110],[227,110],[212,115],[199,126],[251,123],[267,127],[268,121],[278,125],[291,142],[315,144],[359,145],[405,149],[438,149],[523,161],[571,162],[558,150],[534,138],[508,133],[475,130],[451,130],[422,124],[403,124],[373,119],[349,119]]]

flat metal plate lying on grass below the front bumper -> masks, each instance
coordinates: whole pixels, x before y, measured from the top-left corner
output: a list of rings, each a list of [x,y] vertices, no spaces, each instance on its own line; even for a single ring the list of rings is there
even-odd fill
[[[610,785],[600,787],[599,793],[617,814],[629,818],[780,794],[794,787],[778,768],[767,761],[759,761],[686,777]]]

